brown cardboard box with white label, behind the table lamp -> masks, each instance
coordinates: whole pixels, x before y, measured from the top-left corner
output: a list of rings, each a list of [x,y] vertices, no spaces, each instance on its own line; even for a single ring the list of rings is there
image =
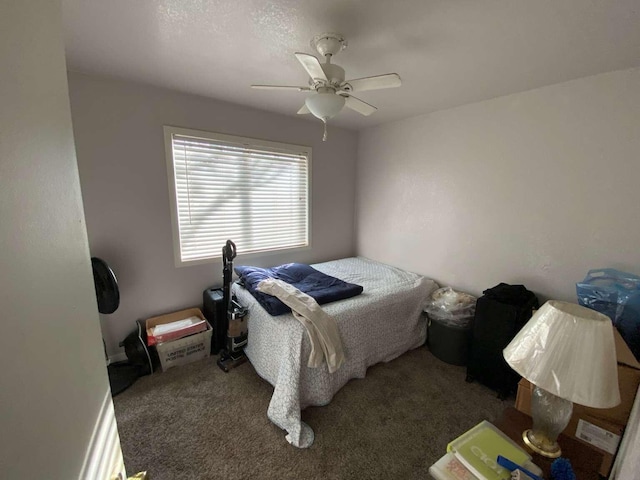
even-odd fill
[[[631,353],[631,350],[615,328],[613,328],[613,332],[618,360],[620,405],[614,408],[590,408],[574,404],[573,415],[569,425],[562,432],[567,436],[589,444],[603,453],[604,459],[600,468],[600,475],[605,477],[609,475],[613,465],[617,445],[629,420],[638,385],[640,385],[640,363],[635,359],[633,353]],[[516,395],[516,408],[527,415],[531,415],[531,390],[531,383],[524,378],[520,380]],[[604,431],[599,432],[598,428]],[[591,432],[591,435],[588,432]],[[598,432],[601,435],[598,435]],[[613,453],[611,453],[611,445],[616,442],[616,437],[618,443],[616,443]],[[605,446],[607,449],[599,448],[598,445]]]

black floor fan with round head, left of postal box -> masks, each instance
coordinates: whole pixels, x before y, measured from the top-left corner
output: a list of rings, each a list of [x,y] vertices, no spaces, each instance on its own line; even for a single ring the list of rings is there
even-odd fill
[[[118,280],[113,270],[109,268],[107,262],[97,257],[91,258],[91,267],[93,268],[93,282],[96,288],[98,311],[107,315],[115,312],[120,306],[120,291],[118,290]],[[104,339],[102,343],[104,344]],[[139,377],[139,369],[126,361],[109,363],[106,345],[104,355],[107,361],[111,395],[115,396],[133,385]]]

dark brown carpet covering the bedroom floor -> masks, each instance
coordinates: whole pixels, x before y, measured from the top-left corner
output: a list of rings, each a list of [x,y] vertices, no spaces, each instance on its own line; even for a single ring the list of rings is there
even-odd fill
[[[114,398],[127,473],[177,479],[427,479],[447,443],[513,399],[465,382],[466,369],[425,347],[351,380],[303,420],[309,449],[267,419],[273,388],[249,363],[211,357],[140,378]]]

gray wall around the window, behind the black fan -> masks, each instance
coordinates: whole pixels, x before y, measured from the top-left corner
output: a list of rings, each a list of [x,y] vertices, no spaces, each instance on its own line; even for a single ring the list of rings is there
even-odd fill
[[[73,72],[69,88],[91,255],[120,285],[120,308],[102,316],[110,354],[136,319],[200,305],[202,291],[222,283],[220,262],[174,266],[163,125],[312,147],[312,248],[238,256],[236,265],[355,253],[355,132],[330,126],[322,142],[319,121]]]

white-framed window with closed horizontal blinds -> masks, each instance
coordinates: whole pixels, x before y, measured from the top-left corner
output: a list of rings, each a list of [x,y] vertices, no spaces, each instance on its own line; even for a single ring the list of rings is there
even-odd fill
[[[311,149],[164,127],[176,265],[309,245]]]

